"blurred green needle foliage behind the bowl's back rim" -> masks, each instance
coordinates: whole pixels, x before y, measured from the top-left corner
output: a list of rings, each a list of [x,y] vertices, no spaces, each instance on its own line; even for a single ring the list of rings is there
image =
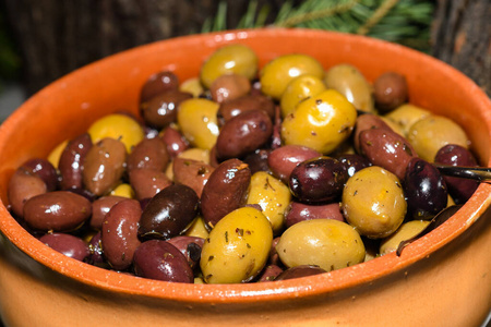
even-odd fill
[[[226,2],[221,1],[202,32],[264,26],[271,9],[258,7],[258,0],[250,1],[240,23],[227,26]],[[307,0],[297,7],[287,1],[272,25],[363,34],[428,51],[433,11],[431,0]]]

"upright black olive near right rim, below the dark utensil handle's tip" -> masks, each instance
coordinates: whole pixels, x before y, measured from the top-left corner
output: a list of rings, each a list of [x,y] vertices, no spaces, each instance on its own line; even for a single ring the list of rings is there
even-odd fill
[[[404,179],[408,214],[414,219],[431,219],[446,207],[447,191],[443,175],[430,162],[412,158]]]

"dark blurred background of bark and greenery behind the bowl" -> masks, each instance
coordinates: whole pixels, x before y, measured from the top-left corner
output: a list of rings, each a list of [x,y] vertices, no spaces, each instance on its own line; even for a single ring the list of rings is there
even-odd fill
[[[56,78],[139,45],[211,31],[308,27],[434,56],[491,94],[490,0],[0,0],[0,121]]]

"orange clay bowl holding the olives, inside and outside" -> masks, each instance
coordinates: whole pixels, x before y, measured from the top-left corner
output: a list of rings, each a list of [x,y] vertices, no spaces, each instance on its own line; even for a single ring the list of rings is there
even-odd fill
[[[0,308],[8,326],[479,326],[491,307],[491,185],[481,184],[443,226],[394,253],[349,268],[278,282],[184,284],[108,271],[41,244],[9,214],[7,185],[105,114],[137,113],[157,71],[196,76],[218,47],[241,43],[260,57],[301,52],[325,69],[407,76],[410,101],[458,122],[491,166],[491,102],[455,69],[371,38],[309,29],[253,29],[181,37],[89,64],[52,83],[0,128]]]

